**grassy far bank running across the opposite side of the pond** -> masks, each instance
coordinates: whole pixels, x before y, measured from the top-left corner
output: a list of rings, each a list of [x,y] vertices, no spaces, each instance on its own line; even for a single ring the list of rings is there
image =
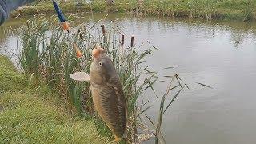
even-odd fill
[[[168,17],[204,18],[211,20],[234,19],[241,21],[256,19],[255,0],[116,0],[114,6],[95,0],[90,6],[76,6],[73,0],[60,2],[63,12],[129,12],[138,15],[161,15]],[[14,11],[12,16],[54,13],[51,1],[37,2]]]

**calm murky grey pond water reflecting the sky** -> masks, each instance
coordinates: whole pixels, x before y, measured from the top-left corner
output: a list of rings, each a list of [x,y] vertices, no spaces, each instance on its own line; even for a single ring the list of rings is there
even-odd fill
[[[95,14],[94,19],[85,16],[82,21],[94,22],[104,17],[105,14]],[[134,35],[136,44],[149,40],[158,47],[148,64],[160,71],[160,76],[177,73],[190,86],[166,113],[163,131],[167,143],[256,142],[256,23],[119,14],[109,14],[106,23],[113,20],[127,35]],[[17,49],[16,34],[6,31],[10,26],[17,28],[21,21],[24,19],[11,19],[0,26],[0,51]],[[162,71],[168,66],[174,69]],[[156,84],[158,94],[166,90],[166,84]],[[154,107],[148,113],[153,117],[159,102],[149,99]]]

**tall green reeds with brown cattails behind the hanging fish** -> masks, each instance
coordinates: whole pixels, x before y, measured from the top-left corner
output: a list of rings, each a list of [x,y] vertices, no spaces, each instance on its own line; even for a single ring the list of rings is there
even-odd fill
[[[59,26],[52,25],[56,21],[34,19],[28,21],[20,30],[22,52],[19,59],[25,73],[34,79],[38,86],[46,83],[62,94],[67,110],[77,114],[94,114],[89,83],[74,82],[70,79],[70,74],[76,71],[89,72],[91,50],[96,46],[102,46],[114,62],[126,95],[129,118],[127,141],[142,142],[153,136],[156,143],[164,142],[159,141],[159,138],[162,139],[160,135],[163,115],[184,86],[180,84],[178,75],[171,77],[170,83],[176,80],[178,86],[170,85],[167,88],[166,94],[162,97],[158,121],[153,122],[145,115],[150,106],[146,106],[147,102],[139,103],[138,99],[146,90],[155,93],[154,83],[158,81],[157,73],[150,70],[146,58],[158,49],[150,43],[145,46],[124,42],[125,34],[114,23],[110,26],[102,26],[104,24],[102,22],[91,25],[81,24],[67,33]],[[82,58],[76,57],[74,43],[82,50]],[[178,88],[180,90],[174,94],[174,99],[166,105],[167,95],[171,90]],[[154,130],[150,130],[146,125],[146,119]],[[100,120],[95,122],[100,133],[109,135],[109,130],[103,122]],[[141,131],[146,133],[146,137],[141,136]]]

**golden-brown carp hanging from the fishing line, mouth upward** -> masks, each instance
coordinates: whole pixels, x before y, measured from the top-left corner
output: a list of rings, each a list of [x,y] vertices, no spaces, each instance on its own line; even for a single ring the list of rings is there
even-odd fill
[[[90,82],[94,108],[118,142],[126,137],[127,126],[127,104],[122,84],[106,50],[95,48],[92,58],[90,74],[76,72],[70,74],[70,78]]]

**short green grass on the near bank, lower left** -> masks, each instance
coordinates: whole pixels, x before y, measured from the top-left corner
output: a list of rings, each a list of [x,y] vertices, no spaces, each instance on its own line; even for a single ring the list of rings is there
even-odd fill
[[[47,86],[28,86],[28,78],[0,56],[0,143],[105,143],[94,118],[66,113]],[[53,96],[54,95],[54,96]]]

